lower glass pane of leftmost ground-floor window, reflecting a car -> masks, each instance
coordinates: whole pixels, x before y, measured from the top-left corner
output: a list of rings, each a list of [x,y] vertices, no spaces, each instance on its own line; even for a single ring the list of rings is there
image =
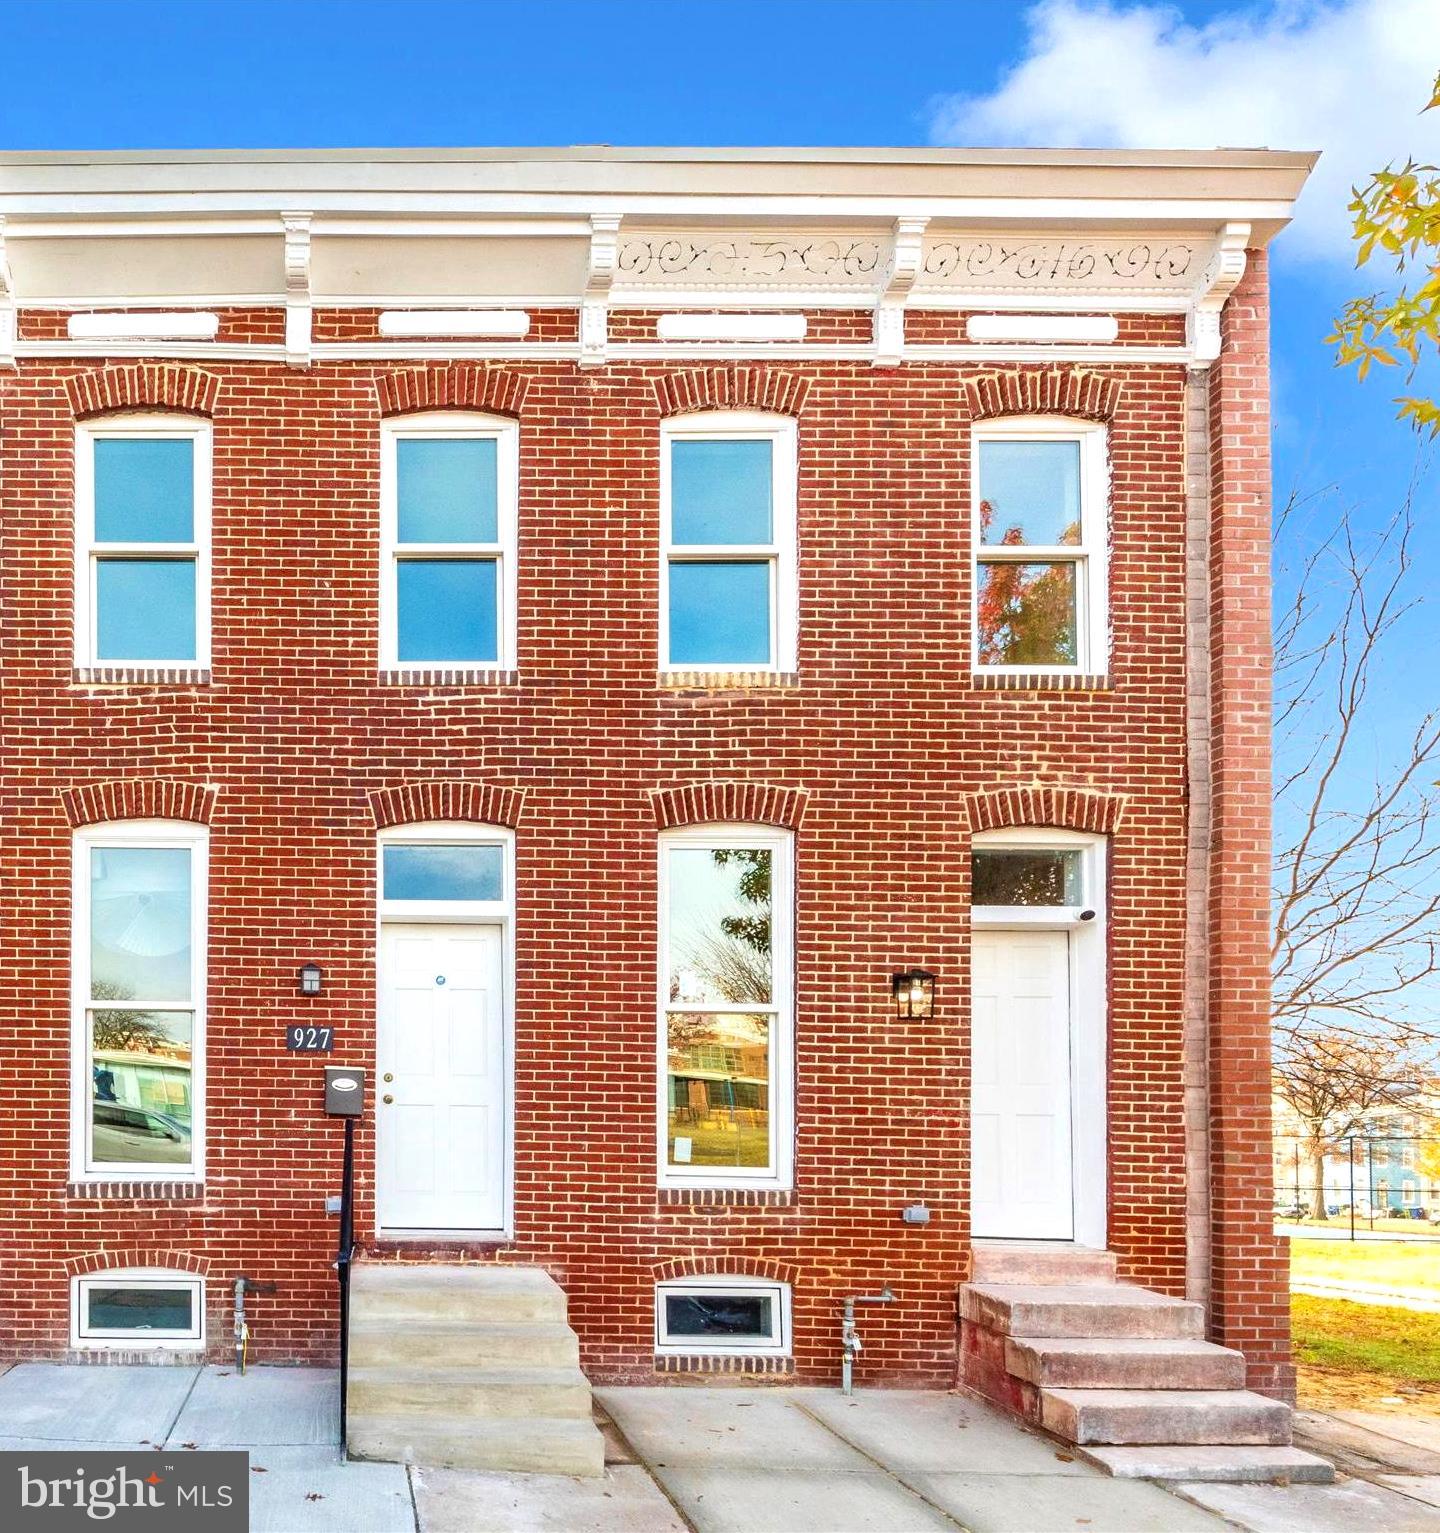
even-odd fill
[[[90,1030],[90,1162],[192,1164],[190,1012],[95,1007]]]

